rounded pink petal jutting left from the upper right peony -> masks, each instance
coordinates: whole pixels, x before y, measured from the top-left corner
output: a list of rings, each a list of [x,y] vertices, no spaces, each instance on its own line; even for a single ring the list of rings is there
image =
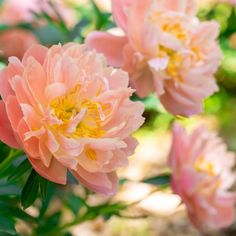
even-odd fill
[[[102,53],[111,66],[121,67],[123,65],[123,48],[127,43],[127,38],[115,36],[104,32],[92,32],[86,39],[86,45],[90,49],[95,49]]]

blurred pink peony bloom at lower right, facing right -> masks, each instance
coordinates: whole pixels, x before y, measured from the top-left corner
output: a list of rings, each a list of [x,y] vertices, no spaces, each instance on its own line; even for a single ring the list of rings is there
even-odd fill
[[[222,139],[200,127],[187,135],[175,124],[169,156],[172,188],[185,203],[193,224],[202,231],[229,226],[235,219],[235,155]]]

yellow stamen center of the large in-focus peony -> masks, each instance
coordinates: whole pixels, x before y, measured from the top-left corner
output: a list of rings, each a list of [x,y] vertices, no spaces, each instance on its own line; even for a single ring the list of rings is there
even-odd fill
[[[51,101],[51,114],[59,120],[59,124],[56,124],[55,128],[65,132],[68,126],[74,122],[76,116],[79,116],[81,111],[84,111],[74,131],[70,133],[70,137],[99,138],[105,134],[105,130],[102,128],[102,121],[109,113],[109,108],[100,102],[85,98],[81,99],[79,93],[80,87],[76,86],[67,94]]]

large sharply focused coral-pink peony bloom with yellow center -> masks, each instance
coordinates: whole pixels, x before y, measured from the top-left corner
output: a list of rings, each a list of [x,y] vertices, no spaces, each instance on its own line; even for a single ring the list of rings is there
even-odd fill
[[[144,118],[128,75],[83,45],[36,45],[0,74],[0,139],[22,148],[44,178],[66,183],[69,170],[91,190],[112,195]]]

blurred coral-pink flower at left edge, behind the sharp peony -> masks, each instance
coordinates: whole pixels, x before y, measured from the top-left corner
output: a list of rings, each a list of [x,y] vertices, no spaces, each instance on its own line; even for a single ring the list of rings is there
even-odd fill
[[[10,29],[0,33],[0,53],[4,58],[16,56],[22,58],[27,49],[38,40],[30,31]]]

